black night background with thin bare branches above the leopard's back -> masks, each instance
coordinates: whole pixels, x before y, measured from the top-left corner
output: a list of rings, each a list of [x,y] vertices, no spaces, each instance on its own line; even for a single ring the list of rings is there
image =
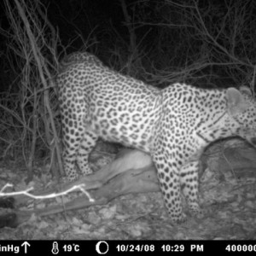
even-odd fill
[[[60,35],[61,45],[56,52],[59,59],[86,49],[114,69],[158,86],[177,81],[203,87],[252,83],[255,1],[42,0],[37,3],[45,7],[47,19]],[[1,9],[3,90],[12,82],[5,55],[8,52],[13,58],[14,53],[10,54],[6,33],[9,20],[3,2]]]

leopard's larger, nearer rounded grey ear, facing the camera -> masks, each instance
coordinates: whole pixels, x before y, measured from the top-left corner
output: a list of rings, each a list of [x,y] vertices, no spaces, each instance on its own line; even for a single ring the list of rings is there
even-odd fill
[[[234,115],[242,113],[247,109],[247,102],[241,95],[241,92],[236,88],[230,87],[226,90],[226,97],[228,103],[228,111]]]

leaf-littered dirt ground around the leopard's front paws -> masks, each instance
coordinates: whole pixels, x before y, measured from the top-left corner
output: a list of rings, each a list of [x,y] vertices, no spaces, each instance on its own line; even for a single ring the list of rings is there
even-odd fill
[[[237,144],[236,144],[237,145]],[[183,224],[172,224],[160,192],[123,195],[106,205],[64,211],[29,220],[16,228],[0,230],[1,240],[255,240],[256,239],[256,151],[250,147],[218,144],[202,158],[201,219],[189,216]],[[26,172],[16,163],[3,163],[1,188],[15,184],[19,191],[47,187],[47,166],[38,166],[34,180],[25,183]],[[75,194],[71,195],[75,199]],[[63,204],[60,198],[55,203]],[[20,210],[32,207],[29,201]],[[53,201],[39,201],[46,208]],[[4,210],[6,211],[6,210]],[[0,211],[1,212],[1,211]],[[1,217],[0,217],[1,218]]]

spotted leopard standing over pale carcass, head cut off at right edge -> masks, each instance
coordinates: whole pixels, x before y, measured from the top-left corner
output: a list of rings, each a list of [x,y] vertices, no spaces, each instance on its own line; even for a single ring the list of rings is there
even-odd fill
[[[98,138],[137,148],[154,162],[173,223],[203,216],[199,166],[205,148],[226,137],[256,145],[256,101],[247,86],[207,89],[173,83],[163,89],[121,74],[89,52],[74,53],[58,73],[63,166],[69,180],[92,173]]]

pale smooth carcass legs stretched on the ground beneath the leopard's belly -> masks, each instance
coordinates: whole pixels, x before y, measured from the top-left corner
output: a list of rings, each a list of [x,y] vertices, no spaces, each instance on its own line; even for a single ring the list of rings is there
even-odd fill
[[[147,193],[159,191],[154,164],[148,154],[138,150],[125,149],[119,153],[115,160],[93,175],[81,177],[78,181],[67,183],[61,189],[70,189],[74,185],[84,184],[84,189],[91,190],[90,201],[86,195],[81,195],[73,201],[62,205],[53,205],[43,209],[33,209],[29,211],[18,211],[1,216],[0,227],[15,227],[28,220],[32,214],[38,217],[64,212],[68,210],[81,209],[93,205],[107,204],[114,198],[130,193]],[[39,191],[36,195],[47,195],[55,192],[56,189]],[[4,223],[6,218],[6,224]]]

